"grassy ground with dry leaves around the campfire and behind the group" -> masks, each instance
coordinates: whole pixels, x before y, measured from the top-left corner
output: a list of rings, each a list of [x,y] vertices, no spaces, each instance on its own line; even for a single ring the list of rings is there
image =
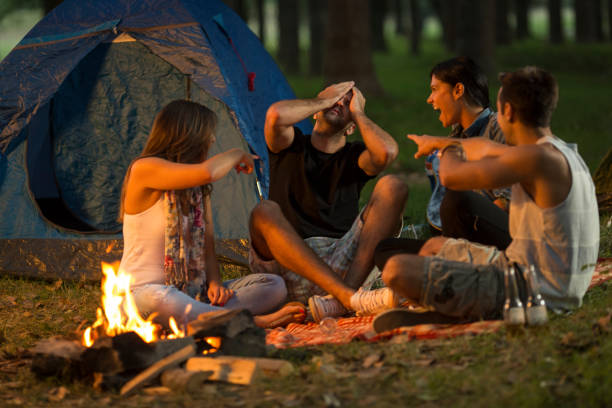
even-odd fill
[[[401,156],[390,171],[410,181],[405,215],[420,223],[428,186],[420,176],[422,161],[412,158],[414,146],[404,135],[447,133],[425,98],[429,69],[449,55],[433,42],[419,57],[407,55],[399,41],[392,47],[393,53],[375,58],[386,95],[369,99],[367,112],[400,143]],[[541,65],[558,78],[561,99],[553,129],[577,142],[594,170],[612,145],[606,126],[612,119],[612,47],[526,42],[498,50],[498,69],[525,64]],[[322,85],[321,78],[290,82],[300,97],[314,96]],[[600,255],[612,256],[610,215],[601,218],[601,227]],[[121,399],[80,382],[37,379],[16,359],[39,339],[76,338],[83,324],[95,318],[98,285],[0,277],[0,406],[611,406],[611,290],[608,283],[589,291],[581,309],[552,316],[540,329],[275,351],[272,356],[294,362],[295,373],[249,387],[211,383],[191,395]],[[366,359],[377,363],[366,368]],[[58,398],[58,387],[68,391],[63,398]]]

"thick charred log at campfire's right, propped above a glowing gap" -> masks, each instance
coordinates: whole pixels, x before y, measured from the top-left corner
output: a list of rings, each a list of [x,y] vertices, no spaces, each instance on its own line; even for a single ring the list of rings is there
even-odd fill
[[[215,354],[259,357],[266,354],[266,332],[258,327],[248,310],[220,310],[203,313],[187,325],[187,335],[195,339],[219,337]],[[210,346],[201,343],[199,352]]]

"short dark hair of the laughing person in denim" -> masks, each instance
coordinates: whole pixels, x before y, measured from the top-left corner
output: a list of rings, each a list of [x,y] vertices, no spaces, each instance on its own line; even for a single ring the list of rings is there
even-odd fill
[[[482,68],[470,57],[455,57],[442,61],[431,69],[429,76],[455,86],[463,84],[465,99],[470,105],[489,107],[489,83]]]

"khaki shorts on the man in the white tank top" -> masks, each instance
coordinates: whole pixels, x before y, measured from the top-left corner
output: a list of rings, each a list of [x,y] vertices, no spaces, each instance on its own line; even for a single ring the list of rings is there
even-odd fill
[[[420,303],[449,316],[499,319],[505,301],[504,270],[509,265],[496,247],[448,239],[435,257],[425,258]],[[520,274],[517,281],[523,295]]]

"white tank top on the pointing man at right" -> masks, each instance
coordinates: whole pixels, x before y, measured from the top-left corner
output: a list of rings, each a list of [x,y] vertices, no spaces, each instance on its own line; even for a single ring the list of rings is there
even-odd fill
[[[599,215],[595,186],[575,144],[544,137],[566,158],[572,176],[570,191],[560,204],[540,208],[520,184],[512,186],[510,236],[506,255],[512,262],[535,265],[542,296],[552,309],[582,304],[599,251]]]

